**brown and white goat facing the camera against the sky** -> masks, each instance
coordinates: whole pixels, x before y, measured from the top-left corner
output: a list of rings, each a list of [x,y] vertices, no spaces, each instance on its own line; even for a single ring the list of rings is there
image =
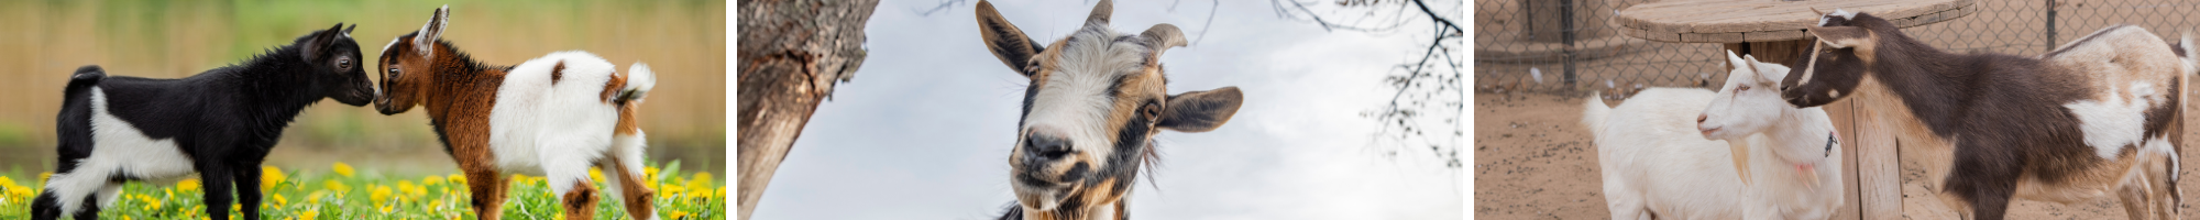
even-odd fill
[[[1001,220],[1122,220],[1124,196],[1151,163],[1159,130],[1208,132],[1236,114],[1236,86],[1168,95],[1162,51],[1184,46],[1173,24],[1122,35],[1107,26],[1113,0],[1100,0],[1069,37],[1038,46],[977,2],[977,24],[1001,64],[1032,79],[1010,150],[1016,207]]]

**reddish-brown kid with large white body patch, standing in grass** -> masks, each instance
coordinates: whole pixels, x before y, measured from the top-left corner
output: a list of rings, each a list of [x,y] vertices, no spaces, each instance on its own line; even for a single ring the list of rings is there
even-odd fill
[[[497,220],[506,189],[502,172],[515,172],[546,176],[565,218],[590,220],[596,187],[587,167],[603,167],[627,213],[653,220],[653,191],[642,187],[640,169],[645,134],[634,121],[636,106],[656,86],[649,66],[634,64],[618,75],[612,62],[581,51],[484,66],[438,37],[449,9],[436,9],[427,26],[383,46],[381,86],[387,92],[374,108],[398,114],[427,106],[436,136],[466,174],[473,213]]]

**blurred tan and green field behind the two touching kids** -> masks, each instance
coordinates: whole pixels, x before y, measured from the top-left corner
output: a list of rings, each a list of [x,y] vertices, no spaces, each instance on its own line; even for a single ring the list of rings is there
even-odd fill
[[[625,70],[645,62],[658,86],[642,103],[649,161],[726,174],[726,2],[722,0],[0,0],[0,172],[53,172],[53,117],[66,75],[187,77],[238,64],[315,29],[359,24],[365,64],[396,35],[451,4],[442,40],[484,64],[590,51]],[[370,70],[381,81],[378,70]],[[275,167],[326,172],[332,161],[392,176],[455,174],[425,110],[378,114],[321,101],[290,123]]]

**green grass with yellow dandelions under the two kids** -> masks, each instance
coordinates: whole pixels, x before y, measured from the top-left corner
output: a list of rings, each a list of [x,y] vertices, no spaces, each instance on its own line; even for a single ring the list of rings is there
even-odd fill
[[[288,167],[282,176],[262,183],[273,187],[262,198],[262,220],[473,220],[466,185],[451,180],[458,174],[438,176],[376,176],[352,172],[350,165],[332,163],[334,172],[315,174]],[[680,161],[649,165],[660,169],[649,185],[658,191],[656,211],[662,220],[724,220],[726,180],[708,172],[680,172]],[[0,220],[24,220],[29,198],[37,194],[42,174],[0,176]],[[18,185],[15,180],[29,183]],[[506,176],[513,185],[504,200],[506,220],[563,220],[559,196],[541,176]],[[121,200],[99,211],[106,220],[205,220],[205,191],[196,178],[176,185],[123,185]],[[596,180],[596,189],[607,189]],[[596,220],[631,220],[620,198],[596,196]],[[229,216],[238,216],[235,209]]]

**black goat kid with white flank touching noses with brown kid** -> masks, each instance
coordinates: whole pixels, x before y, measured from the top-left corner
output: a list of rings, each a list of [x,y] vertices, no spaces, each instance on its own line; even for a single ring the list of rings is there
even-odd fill
[[[352,29],[339,22],[183,79],[77,68],[55,119],[59,165],[31,202],[31,218],[99,220],[123,180],[172,183],[196,172],[209,218],[229,220],[229,205],[242,202],[242,220],[260,220],[260,161],[290,119],[323,97],[345,106],[374,99]]]

